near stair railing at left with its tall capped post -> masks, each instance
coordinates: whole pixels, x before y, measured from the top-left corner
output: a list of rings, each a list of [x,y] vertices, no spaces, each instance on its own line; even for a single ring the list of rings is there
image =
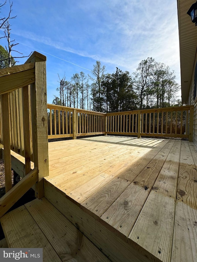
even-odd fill
[[[36,196],[43,197],[42,178],[49,173],[47,142],[46,57],[34,52],[24,65],[0,70],[0,148],[6,188],[0,207],[2,203],[10,207],[10,201],[14,204],[10,190],[11,196],[16,195],[14,201],[21,196],[18,186],[12,188],[10,149],[25,158],[28,181],[27,178],[21,180],[21,192],[38,181]],[[30,168],[31,161],[34,171]]]

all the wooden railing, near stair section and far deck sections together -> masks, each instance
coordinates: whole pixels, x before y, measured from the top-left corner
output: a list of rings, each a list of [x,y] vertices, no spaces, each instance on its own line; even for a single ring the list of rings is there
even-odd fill
[[[35,182],[36,196],[44,196],[48,138],[124,134],[193,139],[193,106],[105,114],[48,104],[48,110],[45,56],[34,52],[24,65],[0,70],[0,155],[4,157],[6,187],[0,216]],[[14,187],[10,149],[25,158],[25,177]],[[24,167],[21,162],[19,166]]]

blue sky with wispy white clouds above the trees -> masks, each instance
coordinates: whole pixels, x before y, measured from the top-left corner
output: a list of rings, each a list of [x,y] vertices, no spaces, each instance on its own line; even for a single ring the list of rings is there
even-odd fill
[[[7,11],[8,4],[0,16]],[[118,67],[132,73],[141,60],[153,57],[174,70],[180,84],[176,0],[13,0],[12,14],[17,15],[10,20],[17,50],[47,57],[48,103],[57,95],[58,73],[65,72],[67,80],[81,71],[90,74],[97,60],[106,72]]]

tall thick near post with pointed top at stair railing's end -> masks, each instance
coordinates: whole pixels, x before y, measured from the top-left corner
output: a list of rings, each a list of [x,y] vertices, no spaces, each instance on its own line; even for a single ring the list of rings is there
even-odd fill
[[[35,83],[31,84],[33,161],[38,168],[35,196],[41,198],[44,196],[43,177],[49,175],[46,57],[34,52],[26,61],[30,62],[35,62]]]

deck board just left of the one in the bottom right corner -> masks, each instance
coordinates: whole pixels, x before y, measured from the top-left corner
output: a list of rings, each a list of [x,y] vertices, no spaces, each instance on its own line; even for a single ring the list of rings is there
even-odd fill
[[[180,148],[176,141],[128,237],[162,261],[171,261]]]

